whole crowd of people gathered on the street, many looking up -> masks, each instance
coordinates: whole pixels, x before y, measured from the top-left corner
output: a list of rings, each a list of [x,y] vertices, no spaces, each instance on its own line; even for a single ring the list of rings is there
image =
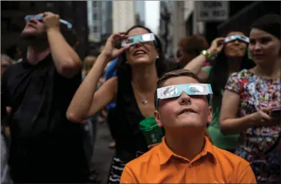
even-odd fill
[[[107,183],[280,183],[280,27],[264,15],[249,35],[183,37],[167,62],[132,26],[81,62],[58,15],[26,19],[26,49],[1,54],[1,183],[97,183],[99,122],[116,149]],[[161,142],[140,129],[151,117]]]

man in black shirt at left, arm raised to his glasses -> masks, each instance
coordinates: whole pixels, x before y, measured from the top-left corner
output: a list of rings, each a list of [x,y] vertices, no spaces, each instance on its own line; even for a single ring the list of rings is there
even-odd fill
[[[82,125],[66,119],[81,82],[80,58],[66,42],[59,15],[26,21],[22,62],[6,69],[1,98],[11,107],[10,174],[15,183],[86,183]],[[2,101],[3,102],[3,101]]]

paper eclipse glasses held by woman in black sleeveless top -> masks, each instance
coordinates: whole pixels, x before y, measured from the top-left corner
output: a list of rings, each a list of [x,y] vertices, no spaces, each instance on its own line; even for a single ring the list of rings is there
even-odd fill
[[[154,41],[157,46],[155,35],[153,33],[146,33],[143,35],[136,35],[134,37],[129,37],[123,40],[121,46],[132,46],[136,44],[136,42],[143,43],[143,42],[152,42],[152,41]]]

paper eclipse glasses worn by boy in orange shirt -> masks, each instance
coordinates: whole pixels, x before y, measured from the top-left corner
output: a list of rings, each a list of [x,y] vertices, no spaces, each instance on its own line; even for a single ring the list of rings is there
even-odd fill
[[[177,84],[165,86],[157,89],[156,109],[158,109],[158,100],[179,97],[181,93],[188,95],[212,95],[210,84]]]

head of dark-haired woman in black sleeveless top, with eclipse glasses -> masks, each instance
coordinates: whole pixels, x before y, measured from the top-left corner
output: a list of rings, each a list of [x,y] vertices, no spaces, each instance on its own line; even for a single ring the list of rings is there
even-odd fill
[[[116,44],[116,48],[129,46],[118,57],[117,75],[126,75],[130,78],[132,68],[138,71],[139,68],[156,66],[157,76],[161,77],[167,71],[161,40],[152,33],[152,30],[140,25],[132,26],[125,35],[128,35],[127,39],[120,40],[120,44]]]

